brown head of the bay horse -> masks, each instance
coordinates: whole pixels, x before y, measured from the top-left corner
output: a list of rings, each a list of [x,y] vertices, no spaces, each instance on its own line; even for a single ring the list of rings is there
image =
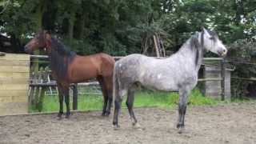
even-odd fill
[[[30,40],[25,46],[25,52],[32,54],[36,49],[47,48],[50,45],[50,33],[46,30],[40,30],[35,34],[34,38]]]

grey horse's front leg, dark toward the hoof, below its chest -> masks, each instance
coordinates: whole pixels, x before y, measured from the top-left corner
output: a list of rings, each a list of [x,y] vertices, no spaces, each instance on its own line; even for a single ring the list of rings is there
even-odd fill
[[[189,90],[179,90],[179,102],[178,102],[178,133],[182,133],[184,130],[184,120],[186,114],[186,103],[188,99]]]

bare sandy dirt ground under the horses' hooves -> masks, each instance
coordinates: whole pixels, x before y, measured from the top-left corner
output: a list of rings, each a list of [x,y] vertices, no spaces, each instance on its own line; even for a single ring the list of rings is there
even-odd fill
[[[100,114],[75,113],[62,120],[57,114],[0,117],[0,143],[256,143],[256,102],[189,106],[183,134],[175,128],[174,109],[135,109],[143,130],[131,126],[126,109],[119,130],[112,127],[112,115]]]

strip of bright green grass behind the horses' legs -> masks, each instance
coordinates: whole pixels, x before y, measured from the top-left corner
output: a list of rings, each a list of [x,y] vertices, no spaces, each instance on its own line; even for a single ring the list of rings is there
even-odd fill
[[[172,108],[178,104],[178,93],[165,93],[158,91],[141,90],[135,93],[134,97],[135,107],[158,106],[165,108]],[[71,99],[71,98],[70,98]],[[199,90],[191,91],[189,97],[190,105],[215,105],[218,100],[214,98],[205,97]],[[63,102],[65,109],[65,102]],[[70,108],[72,102],[70,102]],[[126,107],[126,98],[123,99],[122,107]],[[79,95],[78,96],[78,110],[102,110],[102,96],[101,95]],[[37,112],[34,106],[30,106],[30,112]],[[45,96],[42,111],[58,111],[58,97]]]

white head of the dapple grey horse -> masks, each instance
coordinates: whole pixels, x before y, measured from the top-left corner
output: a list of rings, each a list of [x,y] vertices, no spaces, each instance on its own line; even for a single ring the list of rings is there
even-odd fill
[[[218,34],[216,34],[214,31],[202,28],[202,35],[202,45],[207,51],[210,50],[214,54],[218,54],[220,56],[226,55],[226,46],[224,46],[222,41],[218,38]]]

